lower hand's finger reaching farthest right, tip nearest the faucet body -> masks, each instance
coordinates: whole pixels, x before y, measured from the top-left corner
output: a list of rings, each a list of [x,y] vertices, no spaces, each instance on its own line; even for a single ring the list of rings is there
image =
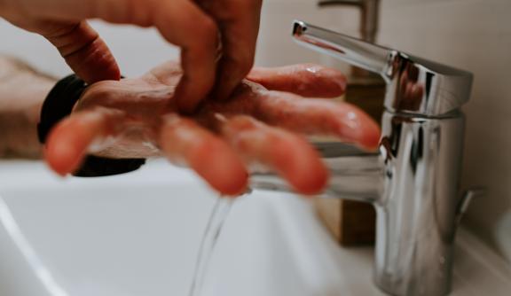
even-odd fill
[[[268,91],[251,113],[261,121],[284,129],[315,136],[335,136],[373,150],[380,141],[380,128],[355,105]]]

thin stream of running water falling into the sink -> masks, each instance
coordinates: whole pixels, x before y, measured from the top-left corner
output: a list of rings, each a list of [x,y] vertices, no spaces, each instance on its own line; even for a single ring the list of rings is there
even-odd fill
[[[222,198],[216,200],[216,204],[209,216],[206,230],[200,242],[199,253],[197,254],[197,262],[193,272],[193,282],[189,296],[200,296],[204,278],[208,273],[209,261],[216,247],[216,242],[224,228],[224,222],[232,208],[233,199]]]

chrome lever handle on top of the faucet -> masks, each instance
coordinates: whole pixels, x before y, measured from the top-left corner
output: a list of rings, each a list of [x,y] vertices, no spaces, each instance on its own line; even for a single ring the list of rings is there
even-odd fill
[[[470,97],[472,74],[402,51],[367,43],[295,20],[298,43],[380,74],[387,82],[385,108],[428,117],[444,116]]]

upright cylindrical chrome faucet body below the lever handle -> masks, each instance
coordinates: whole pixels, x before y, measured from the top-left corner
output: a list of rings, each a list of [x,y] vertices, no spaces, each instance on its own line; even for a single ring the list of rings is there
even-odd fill
[[[385,292],[451,291],[464,126],[461,113],[442,119],[383,115],[375,282]]]

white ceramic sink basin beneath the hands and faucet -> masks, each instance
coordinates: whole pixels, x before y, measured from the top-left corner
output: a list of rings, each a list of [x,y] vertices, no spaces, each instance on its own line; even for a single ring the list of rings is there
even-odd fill
[[[9,296],[187,295],[217,199],[192,172],[161,160],[100,179],[4,161],[0,196],[0,295]],[[470,246],[459,246],[453,294],[509,291],[511,269],[474,256],[481,243],[461,234]],[[203,295],[383,295],[372,266],[373,249],[337,246],[308,200],[254,191],[233,204]]]

